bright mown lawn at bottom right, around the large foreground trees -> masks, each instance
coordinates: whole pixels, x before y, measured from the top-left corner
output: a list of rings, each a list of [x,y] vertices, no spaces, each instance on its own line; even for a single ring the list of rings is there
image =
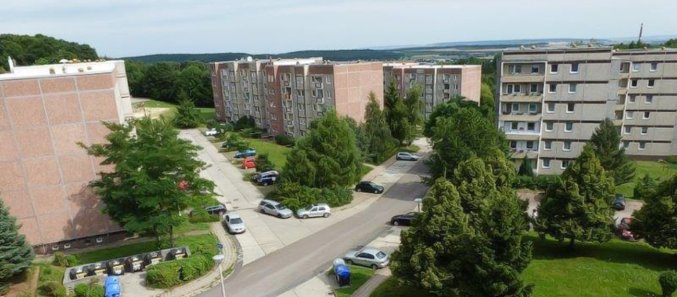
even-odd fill
[[[660,296],[658,275],[677,267],[674,251],[658,250],[643,243],[611,240],[602,244],[578,244],[540,240],[533,233],[534,258],[525,269],[525,282],[535,285],[534,297],[633,297]],[[383,283],[372,297],[426,297],[414,288],[399,288],[395,280]]]

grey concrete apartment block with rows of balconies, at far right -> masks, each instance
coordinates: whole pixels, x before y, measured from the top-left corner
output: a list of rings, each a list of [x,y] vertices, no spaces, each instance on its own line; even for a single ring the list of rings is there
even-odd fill
[[[606,117],[630,157],[677,155],[676,49],[519,48],[499,65],[498,128],[536,173],[561,173]]]

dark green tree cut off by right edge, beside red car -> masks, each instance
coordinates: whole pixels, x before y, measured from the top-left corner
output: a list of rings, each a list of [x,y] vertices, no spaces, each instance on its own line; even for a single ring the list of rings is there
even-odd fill
[[[656,181],[644,178],[640,181],[644,205],[635,211],[632,230],[649,245],[668,249],[677,248],[677,175],[656,186]],[[653,187],[653,189],[651,189]]]

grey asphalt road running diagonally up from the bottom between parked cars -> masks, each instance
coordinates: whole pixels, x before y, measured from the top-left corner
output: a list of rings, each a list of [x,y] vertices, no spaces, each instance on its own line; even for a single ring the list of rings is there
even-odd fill
[[[386,231],[392,215],[411,211],[427,189],[419,178],[426,172],[419,162],[364,211],[242,267],[226,280],[226,296],[278,296],[321,273],[334,258]],[[199,296],[219,297],[221,288]]]

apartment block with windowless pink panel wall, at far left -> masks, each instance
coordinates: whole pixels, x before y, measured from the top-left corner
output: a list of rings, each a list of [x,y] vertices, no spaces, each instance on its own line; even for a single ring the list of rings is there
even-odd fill
[[[132,116],[124,61],[14,66],[0,74],[0,199],[38,253],[124,237],[87,186],[102,122]]]

